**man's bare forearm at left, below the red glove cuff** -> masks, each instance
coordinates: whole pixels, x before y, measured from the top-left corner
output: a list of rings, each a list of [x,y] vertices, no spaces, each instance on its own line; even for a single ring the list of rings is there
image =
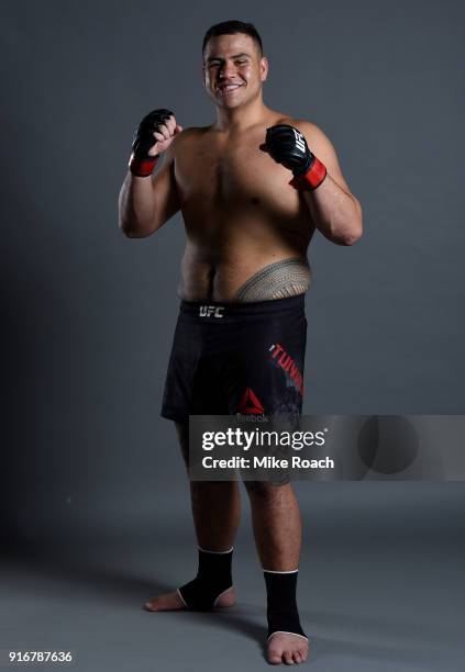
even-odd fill
[[[147,236],[153,231],[155,194],[151,177],[136,177],[128,171],[119,199],[121,231],[131,238]]]

